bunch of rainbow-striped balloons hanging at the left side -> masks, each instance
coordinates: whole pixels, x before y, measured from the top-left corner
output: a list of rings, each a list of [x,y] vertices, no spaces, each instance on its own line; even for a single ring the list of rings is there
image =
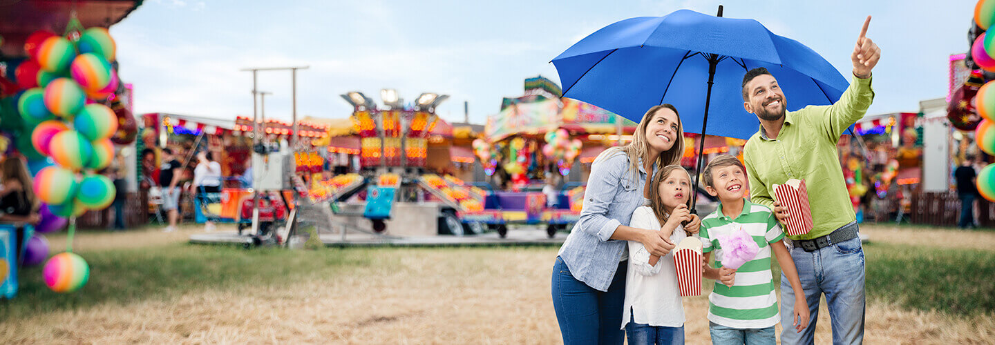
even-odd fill
[[[116,193],[110,179],[94,173],[110,165],[114,155],[111,137],[118,115],[104,102],[119,83],[110,66],[116,47],[106,29],[91,28],[75,42],[36,32],[25,51],[30,60],[18,67],[16,76],[19,86],[30,88],[17,99],[22,130],[17,147],[29,160],[47,165],[34,180],[35,194],[45,203],[39,232],[61,230],[69,218],[72,234],[76,217],[106,208]],[[35,247],[48,252],[48,246]],[[87,261],[72,253],[45,265],[46,283],[57,292],[80,288],[89,272]]]

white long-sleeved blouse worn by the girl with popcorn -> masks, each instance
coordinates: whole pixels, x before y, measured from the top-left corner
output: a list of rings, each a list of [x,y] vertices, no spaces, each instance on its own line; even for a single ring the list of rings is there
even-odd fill
[[[642,206],[632,214],[630,227],[660,231],[660,221],[649,206]],[[688,237],[683,226],[671,235],[674,245]],[[674,266],[674,253],[650,265],[650,253],[638,241],[629,241],[629,269],[626,272],[625,310],[622,328],[634,319],[636,323],[651,326],[684,326],[684,304],[678,289],[678,273]]]

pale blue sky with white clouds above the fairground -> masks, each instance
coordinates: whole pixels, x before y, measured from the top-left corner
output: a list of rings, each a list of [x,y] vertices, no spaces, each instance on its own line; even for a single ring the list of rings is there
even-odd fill
[[[253,113],[247,68],[298,71],[298,116],[344,118],[339,94],[405,101],[449,94],[450,121],[484,123],[526,78],[559,82],[549,61],[617,21],[679,9],[714,15],[720,1],[234,1],[145,0],[110,28],[120,78],[134,86],[136,113],[224,119]],[[727,1],[724,17],[750,18],[797,40],[848,77],[861,26],[882,50],[869,114],[918,111],[947,93],[948,56],[968,49],[975,1]],[[260,72],[267,117],[290,119],[290,72]]]

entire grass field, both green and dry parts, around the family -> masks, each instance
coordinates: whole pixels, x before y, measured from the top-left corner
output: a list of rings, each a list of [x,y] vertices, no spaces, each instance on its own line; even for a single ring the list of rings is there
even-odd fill
[[[0,343],[560,342],[557,248],[245,251],[186,245],[193,231],[79,235],[90,282],[57,294],[39,267],[22,272],[21,294],[0,301]],[[862,231],[868,343],[991,342],[995,233]],[[689,343],[709,343],[706,296],[685,306]]]

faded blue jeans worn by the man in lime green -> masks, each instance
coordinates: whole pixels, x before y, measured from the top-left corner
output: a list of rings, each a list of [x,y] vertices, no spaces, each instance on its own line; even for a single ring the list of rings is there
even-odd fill
[[[833,326],[833,344],[860,344],[864,341],[864,249],[861,239],[833,244],[815,252],[801,248],[791,250],[798,277],[809,305],[810,322],[800,333],[792,324],[795,291],[781,273],[782,344],[812,344],[815,324],[819,320],[819,298],[825,293],[829,320]]]

